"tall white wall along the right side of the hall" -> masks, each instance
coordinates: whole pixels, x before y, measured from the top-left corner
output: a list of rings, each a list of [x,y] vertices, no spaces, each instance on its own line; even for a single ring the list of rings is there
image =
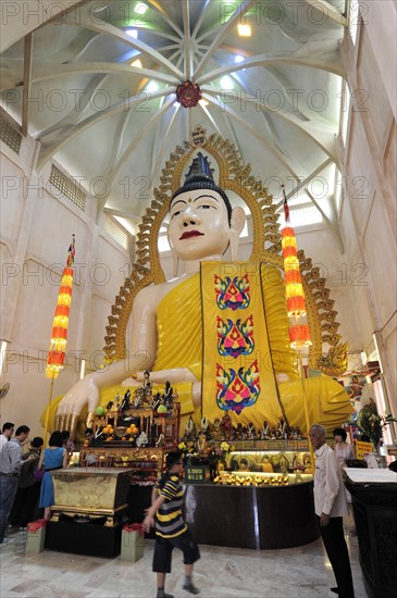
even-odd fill
[[[350,310],[360,323],[363,349],[380,358],[389,407],[397,413],[396,319],[396,7],[392,0],[365,3],[356,45],[346,32],[343,61],[353,95],[346,147],[339,155],[347,199],[340,213],[348,262],[364,264],[352,286]],[[357,101],[360,99],[360,102]],[[361,100],[364,101],[361,101]]]

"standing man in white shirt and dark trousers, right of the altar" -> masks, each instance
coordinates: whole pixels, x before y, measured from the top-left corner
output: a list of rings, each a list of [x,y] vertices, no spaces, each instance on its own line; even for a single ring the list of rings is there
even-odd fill
[[[335,452],[326,444],[325,428],[313,424],[309,438],[315,449],[314,510],[321,537],[335,574],[340,598],[353,598],[349,553],[344,536],[343,518],[348,513],[345,486]]]

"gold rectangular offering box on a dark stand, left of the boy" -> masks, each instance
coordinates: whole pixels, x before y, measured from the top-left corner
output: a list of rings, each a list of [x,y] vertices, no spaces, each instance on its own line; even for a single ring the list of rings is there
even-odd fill
[[[52,472],[55,503],[53,521],[60,513],[107,515],[107,525],[127,508],[132,470],[75,468]]]

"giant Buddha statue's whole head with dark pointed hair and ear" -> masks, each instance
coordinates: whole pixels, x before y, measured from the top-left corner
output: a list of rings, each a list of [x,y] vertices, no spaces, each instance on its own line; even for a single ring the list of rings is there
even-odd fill
[[[223,256],[238,241],[245,219],[241,208],[232,210],[207,158],[198,153],[170,204],[169,240],[175,256],[184,261]]]

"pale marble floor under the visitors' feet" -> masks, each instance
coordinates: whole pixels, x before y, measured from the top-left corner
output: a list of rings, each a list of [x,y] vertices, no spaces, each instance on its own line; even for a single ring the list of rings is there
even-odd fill
[[[358,559],[357,537],[346,536],[356,598],[367,598]],[[156,596],[151,572],[153,540],[145,540],[145,555],[136,563],[45,550],[25,553],[26,532],[11,531],[0,545],[0,596],[33,598],[150,598]],[[201,559],[194,582],[202,598],[322,598],[334,597],[335,578],[321,540],[283,550],[246,550],[200,546]],[[166,591],[182,589],[182,555],[173,557]]]

